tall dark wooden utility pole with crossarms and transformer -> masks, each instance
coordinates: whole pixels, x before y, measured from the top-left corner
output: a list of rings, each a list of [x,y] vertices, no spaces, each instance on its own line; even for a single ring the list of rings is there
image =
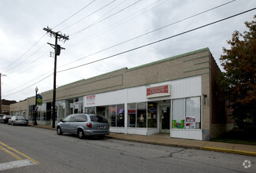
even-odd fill
[[[50,34],[50,36],[54,36],[55,38],[55,45],[53,44],[50,44],[50,46],[52,46],[55,50],[55,53],[54,53],[54,94],[53,94],[53,124],[52,124],[52,127],[55,128],[55,112],[56,112],[56,108],[55,108],[55,102],[56,102],[56,68],[57,68],[57,56],[61,54],[61,49],[64,49],[64,48],[61,48],[61,46],[58,45],[58,39],[60,40],[64,40],[64,42],[66,40],[69,40],[69,36],[68,35],[62,35],[59,31],[58,32],[55,32],[55,31],[52,31],[52,29],[50,28],[43,28],[44,31],[47,31],[47,33]]]

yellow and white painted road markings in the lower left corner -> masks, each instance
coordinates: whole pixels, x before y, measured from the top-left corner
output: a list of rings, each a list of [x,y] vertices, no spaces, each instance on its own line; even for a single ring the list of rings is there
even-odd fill
[[[38,161],[32,159],[32,157],[27,156],[24,153],[21,153],[17,149],[14,149],[13,147],[10,147],[9,145],[6,145],[3,142],[0,142],[0,149],[6,153],[8,153],[10,156],[13,156],[16,161],[11,161],[7,163],[0,164],[0,171],[12,169],[15,167],[24,167],[32,164],[40,164]],[[20,155],[20,156],[18,156]],[[22,159],[21,156],[25,157],[26,159]]]

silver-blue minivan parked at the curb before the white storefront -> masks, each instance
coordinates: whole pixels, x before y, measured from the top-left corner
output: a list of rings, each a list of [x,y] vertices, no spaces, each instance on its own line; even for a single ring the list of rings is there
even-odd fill
[[[57,126],[57,134],[77,134],[85,136],[105,136],[110,133],[109,122],[104,116],[96,114],[72,114],[61,120]]]

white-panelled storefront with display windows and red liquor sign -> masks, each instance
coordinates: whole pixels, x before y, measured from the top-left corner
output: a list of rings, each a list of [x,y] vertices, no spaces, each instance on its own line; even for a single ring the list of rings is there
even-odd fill
[[[84,110],[109,120],[110,131],[202,140],[201,76],[83,97]],[[185,136],[186,135],[186,136]]]

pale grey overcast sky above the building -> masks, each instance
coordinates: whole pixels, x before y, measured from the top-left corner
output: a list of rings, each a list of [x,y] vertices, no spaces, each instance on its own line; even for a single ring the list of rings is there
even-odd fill
[[[58,56],[57,86],[62,86],[205,47],[221,68],[219,58],[222,48],[228,48],[226,41],[233,31],[246,30],[244,22],[253,20],[255,10],[139,50],[73,67],[254,7],[255,0],[1,0],[0,73],[6,75],[2,76],[2,99],[30,98],[36,86],[39,93],[53,89],[54,57],[50,52],[54,50],[47,42],[54,44],[55,39],[43,31],[47,26],[69,35],[66,42],[58,41],[65,48]],[[73,69],[60,72],[68,68]]]

